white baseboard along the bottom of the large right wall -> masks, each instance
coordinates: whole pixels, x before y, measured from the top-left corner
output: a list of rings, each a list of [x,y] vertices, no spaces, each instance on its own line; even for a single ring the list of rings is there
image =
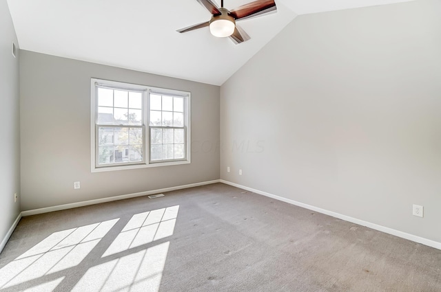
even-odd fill
[[[315,207],[313,205],[307,205],[305,203],[300,203],[298,201],[294,201],[294,200],[291,200],[291,199],[284,198],[283,196],[276,196],[275,194],[270,194],[269,192],[263,192],[261,190],[256,190],[254,188],[248,188],[247,186],[242,186],[242,185],[239,185],[238,183],[232,183],[231,181],[225,181],[223,179],[220,179],[220,182],[221,183],[225,183],[225,184],[227,184],[229,186],[234,186],[236,188],[241,188],[243,190],[249,190],[250,192],[255,192],[256,194],[261,194],[263,196],[269,196],[269,198],[276,199],[278,201],[283,201],[285,203],[290,203],[292,205],[296,205],[296,206],[299,206],[299,207],[304,207],[305,209],[313,210],[315,212],[319,212],[319,213],[322,213],[322,214],[333,216],[335,218],[339,218],[339,219],[342,219],[342,220],[345,220],[345,221],[349,221],[351,223],[355,223],[355,224],[358,224],[358,225],[362,225],[362,226],[366,226],[366,227],[369,227],[369,228],[372,228],[372,229],[376,229],[376,230],[378,230],[380,232],[391,234],[393,236],[398,236],[400,238],[411,240],[411,241],[414,241],[416,243],[421,243],[422,245],[427,245],[427,246],[433,247],[435,249],[441,249],[441,243],[438,243],[438,241],[430,240],[430,239],[427,239],[427,238],[423,238],[423,237],[420,237],[420,236],[416,236],[416,235],[413,235],[413,234],[402,232],[400,230],[392,229],[392,228],[389,228],[389,227],[384,227],[382,225],[378,225],[378,224],[375,224],[375,223],[363,221],[363,220],[360,220],[360,219],[357,219],[357,218],[353,218],[351,216],[346,216],[346,215],[339,214],[339,213],[336,213],[336,212],[332,212],[332,211],[329,211],[329,210],[325,210],[325,209],[322,209],[322,208],[319,208],[319,207]]]

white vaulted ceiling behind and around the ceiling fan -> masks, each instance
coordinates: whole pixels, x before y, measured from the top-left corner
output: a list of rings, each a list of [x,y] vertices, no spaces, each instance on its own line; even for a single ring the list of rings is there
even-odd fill
[[[225,0],[229,10],[253,0]],[[21,49],[222,85],[298,14],[408,0],[276,0],[277,12],[238,21],[251,37],[235,45],[208,27],[196,0],[8,0]],[[220,0],[214,1],[220,4]],[[220,5],[219,5],[220,6]]]

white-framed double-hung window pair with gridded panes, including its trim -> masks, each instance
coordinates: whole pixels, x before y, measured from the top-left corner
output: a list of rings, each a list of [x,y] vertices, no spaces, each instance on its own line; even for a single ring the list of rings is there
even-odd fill
[[[189,163],[189,92],[91,83],[92,172]]]

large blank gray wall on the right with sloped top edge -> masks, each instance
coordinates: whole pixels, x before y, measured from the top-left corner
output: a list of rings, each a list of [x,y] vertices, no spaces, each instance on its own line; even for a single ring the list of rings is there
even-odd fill
[[[294,19],[220,89],[221,179],[441,242],[440,14]]]

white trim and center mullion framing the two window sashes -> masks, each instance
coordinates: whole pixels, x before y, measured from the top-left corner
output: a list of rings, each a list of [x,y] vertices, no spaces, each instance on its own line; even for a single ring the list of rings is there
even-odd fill
[[[124,164],[124,165],[113,165],[113,166],[96,166],[96,118],[98,117],[97,106],[96,106],[96,83],[99,85],[108,85],[112,88],[121,88],[121,89],[132,89],[132,90],[141,90],[146,91],[146,97],[143,98],[143,115],[145,120],[145,141],[144,141],[144,161],[137,164]],[[127,86],[129,85],[129,86]],[[147,106],[149,98],[149,93],[164,93],[175,96],[185,96],[185,119],[186,119],[186,131],[185,138],[185,157],[186,159],[176,160],[176,161],[152,161],[150,162],[150,125],[149,125],[149,115],[150,109]],[[181,164],[190,164],[191,163],[191,93],[188,91],[178,91],[174,89],[163,89],[160,87],[150,87],[146,85],[134,85],[127,82],[117,82],[110,80],[103,80],[98,78],[90,79],[90,170],[91,172],[105,172],[105,171],[114,171],[114,170],[127,170],[127,169],[137,169],[137,168],[151,168],[158,166],[176,166]]]

